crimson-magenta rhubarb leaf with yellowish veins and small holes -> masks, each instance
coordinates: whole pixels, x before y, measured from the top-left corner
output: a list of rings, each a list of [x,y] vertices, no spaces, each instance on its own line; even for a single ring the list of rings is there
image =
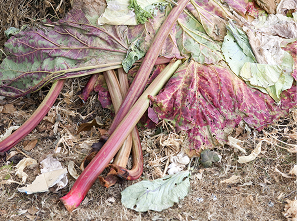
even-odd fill
[[[227,136],[244,120],[262,129],[286,116],[296,105],[296,85],[281,94],[276,105],[268,94],[252,89],[228,67],[185,62],[165,88],[152,97],[159,119],[171,121],[188,135],[190,149],[223,145]]]

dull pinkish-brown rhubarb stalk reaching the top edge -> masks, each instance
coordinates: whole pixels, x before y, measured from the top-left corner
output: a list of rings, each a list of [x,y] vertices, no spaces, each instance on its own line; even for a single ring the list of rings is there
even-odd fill
[[[156,60],[165,42],[165,39],[167,38],[173,25],[176,23],[178,16],[181,14],[181,12],[183,12],[188,2],[189,0],[178,1],[178,5],[170,11],[164,23],[159,28],[149,50],[146,53],[146,56],[143,58],[143,62],[140,65],[140,68],[127,92],[127,95],[121,104],[118,114],[116,114],[115,118],[113,119],[113,123],[109,129],[110,134],[113,133],[113,131],[119,125],[124,116],[126,116],[132,105],[142,93],[146,82],[149,79],[151,70],[156,63]]]

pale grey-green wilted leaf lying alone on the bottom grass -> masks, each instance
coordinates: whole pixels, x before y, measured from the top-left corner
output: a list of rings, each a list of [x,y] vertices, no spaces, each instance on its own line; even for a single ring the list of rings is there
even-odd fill
[[[162,211],[187,196],[190,171],[182,171],[154,181],[140,181],[121,192],[122,204],[136,211]]]

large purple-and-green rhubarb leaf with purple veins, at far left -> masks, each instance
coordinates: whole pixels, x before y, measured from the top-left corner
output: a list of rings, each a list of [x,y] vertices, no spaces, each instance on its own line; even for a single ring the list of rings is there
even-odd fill
[[[0,94],[20,97],[53,79],[119,68],[136,40],[144,51],[141,56],[145,54],[165,19],[165,12],[158,11],[157,17],[144,25],[95,26],[90,21],[94,20],[92,13],[75,4],[58,22],[48,21],[39,29],[26,29],[12,36],[5,43],[8,57],[0,65]],[[162,53],[167,58],[181,58],[172,37],[166,39]]]

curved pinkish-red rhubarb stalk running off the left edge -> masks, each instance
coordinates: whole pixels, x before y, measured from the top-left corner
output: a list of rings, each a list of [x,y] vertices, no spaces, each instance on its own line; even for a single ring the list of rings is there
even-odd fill
[[[26,137],[37,126],[37,124],[40,123],[59,96],[64,82],[65,80],[57,80],[53,83],[45,99],[30,116],[30,118],[26,120],[22,126],[15,130],[15,132],[4,139],[4,141],[0,142],[0,152],[7,151],[12,148],[20,140]]]

